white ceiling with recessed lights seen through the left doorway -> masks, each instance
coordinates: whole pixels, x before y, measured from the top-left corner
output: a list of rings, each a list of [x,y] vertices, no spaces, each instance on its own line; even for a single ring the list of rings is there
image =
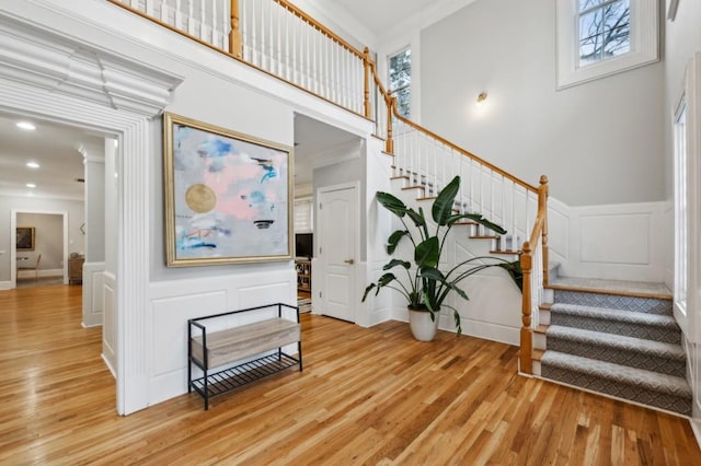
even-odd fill
[[[20,120],[32,121],[36,130],[18,128]],[[82,199],[84,184],[76,180],[83,178],[78,144],[102,145],[104,140],[66,125],[0,114],[0,195]],[[41,167],[28,168],[30,161]]]

